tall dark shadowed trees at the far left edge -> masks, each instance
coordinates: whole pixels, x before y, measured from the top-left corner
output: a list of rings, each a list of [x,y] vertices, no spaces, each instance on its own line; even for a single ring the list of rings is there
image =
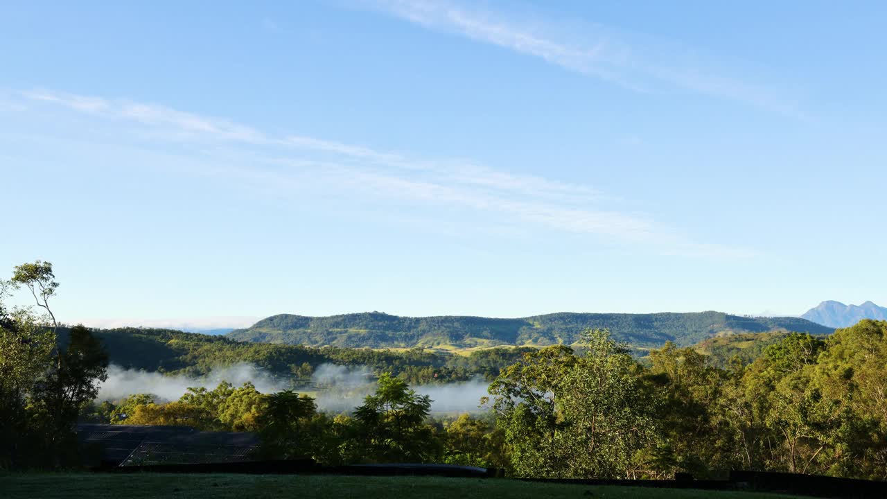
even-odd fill
[[[52,329],[29,308],[7,311],[4,297],[21,286],[49,313]],[[59,341],[49,306],[58,287],[52,264],[40,260],[0,281],[0,468],[77,463],[74,424],[106,379],[106,352],[89,329],[76,326]]]

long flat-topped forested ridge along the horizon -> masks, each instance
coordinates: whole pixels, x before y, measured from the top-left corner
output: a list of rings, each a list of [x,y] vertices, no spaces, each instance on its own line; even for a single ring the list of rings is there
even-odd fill
[[[830,334],[832,328],[795,317],[742,317],[702,313],[548,313],[522,319],[440,316],[400,317],[387,313],[348,313],[330,317],[280,314],[237,329],[239,341],[348,347],[453,347],[494,345],[572,345],[585,329],[609,329],[634,346],[666,341],[693,345],[718,333],[775,330]]]

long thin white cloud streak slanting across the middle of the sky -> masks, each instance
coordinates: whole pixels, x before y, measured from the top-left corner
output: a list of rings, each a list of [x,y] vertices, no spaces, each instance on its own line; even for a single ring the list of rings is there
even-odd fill
[[[286,168],[214,167],[214,174],[252,178],[268,186],[293,185],[306,178],[323,188],[349,189],[402,202],[458,207],[491,213],[506,221],[530,223],[574,234],[603,236],[620,243],[640,243],[661,254],[686,257],[743,258],[754,253],[719,244],[697,243],[654,220],[633,213],[602,210],[595,205],[612,200],[595,189],[495,170],[473,162],[414,160],[404,154],[305,136],[274,137],[254,127],[179,111],[170,107],[122,99],[25,91],[31,104],[50,105],[114,123],[147,127],[154,140],[194,143],[195,152],[207,141],[258,151],[268,162]],[[289,168],[290,170],[287,170]]]

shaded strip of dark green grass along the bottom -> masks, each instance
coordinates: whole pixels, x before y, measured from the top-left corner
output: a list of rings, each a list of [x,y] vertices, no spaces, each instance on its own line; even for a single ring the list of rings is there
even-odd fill
[[[587,487],[522,482],[512,479],[446,479],[434,477],[342,477],[299,475],[172,475],[24,473],[0,475],[4,499],[299,499],[343,497],[354,499],[488,499],[508,497],[629,499],[757,499],[796,497],[745,492],[652,489],[642,487]]]

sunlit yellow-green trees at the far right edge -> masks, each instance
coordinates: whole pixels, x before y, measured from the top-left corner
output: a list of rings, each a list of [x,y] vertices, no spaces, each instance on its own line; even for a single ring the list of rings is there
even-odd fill
[[[859,381],[877,381],[872,392],[860,390],[854,362],[846,360],[870,359],[866,348],[883,348],[878,332],[884,326],[863,321],[838,330],[828,341],[790,334],[766,347],[747,368],[729,373],[722,396],[708,407],[722,435],[721,462],[883,479],[884,420],[870,401],[883,391],[887,372],[881,361],[869,363],[874,377]]]

